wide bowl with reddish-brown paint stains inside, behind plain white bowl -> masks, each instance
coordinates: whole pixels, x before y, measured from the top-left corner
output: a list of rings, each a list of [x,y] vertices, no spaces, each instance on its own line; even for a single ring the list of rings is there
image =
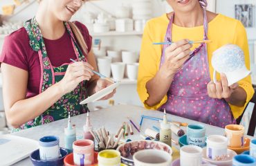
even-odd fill
[[[120,145],[116,150],[121,153],[121,161],[127,165],[134,165],[133,155],[144,149],[158,149],[172,155],[172,147],[155,140],[134,140]]]

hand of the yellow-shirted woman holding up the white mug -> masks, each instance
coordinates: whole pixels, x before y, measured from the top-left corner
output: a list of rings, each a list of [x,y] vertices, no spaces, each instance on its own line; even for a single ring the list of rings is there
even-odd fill
[[[237,83],[228,86],[226,75],[221,73],[221,81],[217,81],[216,83],[210,81],[207,84],[207,91],[210,98],[228,99],[238,87]]]

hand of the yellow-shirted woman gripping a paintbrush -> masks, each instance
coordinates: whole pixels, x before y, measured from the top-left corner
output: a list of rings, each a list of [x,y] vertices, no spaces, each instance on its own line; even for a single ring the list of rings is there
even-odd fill
[[[190,57],[190,48],[192,44],[189,44],[189,40],[182,39],[165,49],[165,62],[161,71],[166,77],[173,77],[182,68],[184,62]]]

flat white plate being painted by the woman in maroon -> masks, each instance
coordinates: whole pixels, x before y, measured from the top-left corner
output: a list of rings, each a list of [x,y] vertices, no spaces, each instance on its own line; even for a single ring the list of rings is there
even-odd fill
[[[113,83],[110,86],[107,86],[107,88],[104,88],[104,89],[98,91],[97,93],[89,96],[88,98],[86,98],[85,100],[80,102],[80,104],[87,104],[89,102],[95,102],[95,101],[103,98],[105,95],[108,95],[109,93],[111,93],[113,91],[113,89],[116,89],[116,87],[118,87],[119,85],[120,85],[120,82]]]

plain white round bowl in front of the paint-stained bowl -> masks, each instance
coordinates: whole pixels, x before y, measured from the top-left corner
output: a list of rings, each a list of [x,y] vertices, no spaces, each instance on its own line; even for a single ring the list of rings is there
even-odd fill
[[[137,151],[133,159],[136,166],[166,166],[172,163],[172,156],[166,151],[158,149]]]

